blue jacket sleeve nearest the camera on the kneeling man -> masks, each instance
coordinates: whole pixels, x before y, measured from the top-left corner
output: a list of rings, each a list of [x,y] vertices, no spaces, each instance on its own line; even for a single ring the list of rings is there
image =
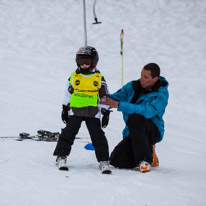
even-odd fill
[[[164,110],[167,106],[167,101],[162,96],[148,98],[147,101],[139,102],[139,104],[132,104],[128,102],[120,102],[118,111],[128,114],[140,114],[146,119],[150,119]]]

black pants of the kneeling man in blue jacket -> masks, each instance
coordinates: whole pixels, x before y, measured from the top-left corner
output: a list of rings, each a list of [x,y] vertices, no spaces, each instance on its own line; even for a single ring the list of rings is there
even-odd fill
[[[152,163],[152,145],[160,140],[156,125],[142,115],[132,114],[127,126],[130,136],[114,148],[110,164],[119,168],[134,168],[143,160]]]

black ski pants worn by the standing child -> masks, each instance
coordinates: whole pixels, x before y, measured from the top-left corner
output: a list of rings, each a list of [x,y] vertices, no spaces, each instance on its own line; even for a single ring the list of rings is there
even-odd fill
[[[89,130],[97,161],[108,161],[108,142],[101,129],[100,119],[92,117],[70,116],[66,127],[62,130],[53,155],[68,156],[70,154],[71,146],[74,143],[82,121],[85,121]]]

